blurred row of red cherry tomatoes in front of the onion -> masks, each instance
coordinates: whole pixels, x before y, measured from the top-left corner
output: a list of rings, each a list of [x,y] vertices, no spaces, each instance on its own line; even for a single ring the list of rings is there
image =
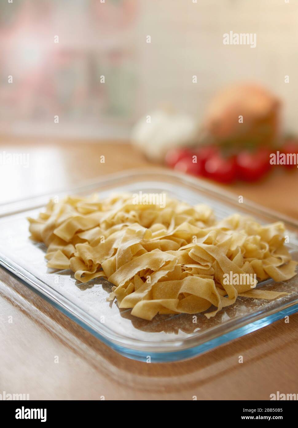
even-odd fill
[[[236,179],[257,181],[272,167],[270,153],[273,149],[261,147],[253,151],[242,150],[237,155],[224,156],[218,146],[198,149],[171,149],[166,155],[167,166],[177,171],[207,177],[221,183],[231,183]],[[289,140],[280,153],[298,153],[298,143]],[[295,165],[285,165],[292,167]]]

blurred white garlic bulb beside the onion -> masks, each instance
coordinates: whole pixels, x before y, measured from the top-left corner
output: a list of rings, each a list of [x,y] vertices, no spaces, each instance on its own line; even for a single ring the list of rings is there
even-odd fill
[[[191,144],[196,130],[187,114],[156,110],[134,125],[131,141],[150,160],[162,161],[169,149]]]

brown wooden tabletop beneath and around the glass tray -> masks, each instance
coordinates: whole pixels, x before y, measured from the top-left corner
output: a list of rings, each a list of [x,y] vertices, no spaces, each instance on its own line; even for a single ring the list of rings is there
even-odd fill
[[[0,202],[150,165],[117,142],[3,137],[0,151],[29,153],[28,168],[0,166]],[[276,168],[263,182],[226,188],[297,219],[297,185],[296,170]],[[298,393],[297,339],[295,314],[289,324],[277,321],[192,360],[141,363],[112,351],[0,268],[0,393],[53,400],[268,400],[276,391]]]

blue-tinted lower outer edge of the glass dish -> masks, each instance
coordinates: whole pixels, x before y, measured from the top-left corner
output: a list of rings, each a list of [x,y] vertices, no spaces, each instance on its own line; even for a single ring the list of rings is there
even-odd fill
[[[32,285],[28,284],[28,282],[23,279],[18,278],[24,285],[30,288],[34,293],[38,294],[72,321],[79,324],[80,327],[87,330],[101,342],[105,343],[108,347],[112,348],[114,351],[123,355],[124,357],[130,358],[131,360],[142,361],[143,363],[147,362],[148,357],[150,357],[151,363],[171,363],[174,361],[187,360],[189,358],[196,357],[200,354],[203,354],[206,351],[210,351],[211,349],[216,348],[219,345],[223,345],[224,343],[230,342],[233,339],[237,339],[238,337],[245,336],[248,333],[252,333],[253,331],[259,330],[262,327],[266,327],[266,325],[272,324],[275,321],[284,318],[286,315],[292,315],[295,312],[298,312],[298,304],[289,306],[289,308],[283,309],[281,311],[275,312],[272,315],[268,315],[265,318],[260,320],[251,322],[243,327],[237,328],[236,330],[230,331],[229,333],[223,334],[220,337],[216,337],[214,339],[208,340],[201,345],[194,346],[193,348],[182,349],[181,351],[171,351],[171,352],[145,352],[145,351],[137,351],[136,349],[125,348],[120,345],[116,345],[115,343],[109,341],[105,337],[101,336],[87,324],[83,323],[79,318],[76,318],[73,314],[68,312],[58,303],[51,300],[49,297],[45,296],[41,291],[38,291],[36,288],[32,287]]]

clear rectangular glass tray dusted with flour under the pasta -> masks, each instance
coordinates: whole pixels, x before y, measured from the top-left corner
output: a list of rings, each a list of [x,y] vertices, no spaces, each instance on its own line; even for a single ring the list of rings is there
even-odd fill
[[[33,199],[0,205],[0,263],[67,316],[98,337],[120,354],[136,360],[169,362],[183,360],[225,342],[243,336],[298,311],[298,279],[274,283],[272,280],[258,288],[287,291],[288,296],[277,300],[257,300],[238,297],[234,305],[207,320],[205,315],[157,315],[145,321],[131,315],[131,309],[118,309],[117,302],[106,301],[110,283],[102,278],[81,284],[70,270],[57,271],[46,267],[44,244],[29,239],[26,217],[37,217],[41,208],[53,196],[88,195],[98,192],[163,193],[188,202],[207,203],[218,219],[234,212],[252,215],[260,223],[282,220],[289,235],[288,247],[298,260],[298,222],[267,211],[252,202],[239,203],[238,196],[219,187],[187,175],[161,169],[134,170],[99,179],[65,192],[38,196]]]

